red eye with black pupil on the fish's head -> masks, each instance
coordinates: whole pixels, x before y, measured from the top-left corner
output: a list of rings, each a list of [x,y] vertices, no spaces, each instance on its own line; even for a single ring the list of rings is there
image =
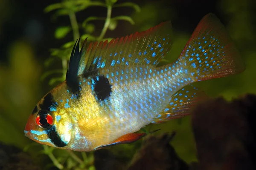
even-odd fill
[[[38,126],[47,129],[52,126],[53,123],[53,118],[50,112],[48,111],[40,111],[38,112],[38,115],[36,116],[35,119],[36,123]]]

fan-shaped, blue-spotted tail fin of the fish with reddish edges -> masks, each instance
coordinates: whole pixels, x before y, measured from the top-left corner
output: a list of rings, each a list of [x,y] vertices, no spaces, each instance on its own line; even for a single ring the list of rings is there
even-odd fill
[[[207,14],[200,21],[178,61],[188,69],[194,81],[225,77],[244,70],[238,50],[214,14]]]

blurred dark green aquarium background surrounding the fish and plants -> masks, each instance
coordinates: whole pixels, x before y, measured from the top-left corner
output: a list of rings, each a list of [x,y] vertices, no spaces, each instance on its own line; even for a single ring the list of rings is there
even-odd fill
[[[76,0],[74,0],[76,1]],[[116,0],[113,0],[116,1]],[[56,16],[55,11],[45,8],[60,0],[0,0],[0,143],[25,150],[42,169],[56,169],[46,153],[46,148],[24,136],[23,130],[32,109],[40,98],[59,83],[63,63],[60,57],[50,57],[63,44],[73,41],[72,31],[60,29],[70,26],[67,15]],[[84,0],[84,2],[102,2]],[[246,70],[239,75],[195,83],[212,98],[223,96],[227,100],[245,93],[256,94],[256,4],[253,0],[117,0],[116,4],[134,3],[134,6],[116,7],[111,17],[126,15],[134,21],[118,20],[112,23],[104,38],[115,38],[140,32],[171,20],[174,33],[173,46],[166,62],[175,61],[180,55],[193,30],[209,12],[216,14],[244,59]],[[137,4],[137,6],[135,6]],[[107,9],[90,6],[76,12],[79,32],[98,37],[105,20],[93,20],[87,27],[81,24],[88,17],[106,17]],[[63,33],[64,32],[64,33]],[[50,59],[49,59],[50,58]],[[57,80],[56,80],[57,78]],[[55,80],[55,81],[52,81]],[[148,125],[147,130],[161,129],[153,135],[176,132],[171,141],[178,156],[187,163],[197,161],[191,117],[171,120],[165,124]],[[109,148],[116,158],[128,162],[143,145],[142,139],[134,144]],[[49,149],[49,148],[48,148]],[[64,150],[50,151],[67,169],[77,168],[79,163],[70,157],[80,153]],[[94,154],[86,153],[87,168],[93,166]],[[70,161],[69,163],[67,163]],[[68,164],[68,165],[67,165]]]

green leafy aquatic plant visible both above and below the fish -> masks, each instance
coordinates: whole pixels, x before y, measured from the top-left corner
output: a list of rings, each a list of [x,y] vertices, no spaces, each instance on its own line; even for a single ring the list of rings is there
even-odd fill
[[[107,40],[111,38],[105,38],[105,33],[108,29],[114,30],[118,24],[119,20],[125,20],[134,24],[134,21],[129,16],[116,16],[111,17],[112,9],[116,7],[131,7],[134,8],[137,12],[140,11],[140,7],[131,2],[119,3],[116,4],[117,0],[105,0],[103,1],[96,1],[96,0],[64,0],[61,3],[55,3],[47,6],[44,11],[45,12],[52,12],[55,11],[52,18],[57,19],[61,15],[66,15],[70,19],[70,26],[60,26],[55,30],[55,38],[62,39],[66,37],[66,35],[70,32],[73,32],[73,40],[64,43],[61,48],[59,49],[51,49],[51,57],[45,61],[45,66],[48,67],[52,63],[56,62],[56,59],[59,58],[62,63],[62,69],[54,69],[45,72],[41,80],[44,80],[48,76],[52,74],[61,74],[61,77],[53,77],[49,80],[49,85],[55,84],[57,82],[61,82],[65,80],[68,61],[70,58],[70,53],[73,49],[73,45],[76,40],[81,38],[80,42],[83,42],[85,38],[88,41],[101,41]],[[87,17],[81,24],[76,19],[76,13],[87,9],[88,7],[95,6],[95,7],[105,7],[107,8],[107,15],[106,17]],[[90,23],[90,21],[103,21],[104,26],[99,36],[93,36],[92,33],[95,29],[95,26]],[[82,33],[80,32],[82,30]],[[43,145],[44,150],[41,150],[40,153],[46,154],[52,160],[53,165],[58,169],[88,169],[94,170],[95,167],[93,166],[94,156],[93,153],[75,153],[71,150],[61,150],[59,151],[61,154],[54,153],[54,147],[49,147]],[[26,148],[27,149],[27,148]],[[25,149],[25,150],[26,150]],[[55,156],[57,155],[57,156]],[[49,167],[52,165],[49,165]]]

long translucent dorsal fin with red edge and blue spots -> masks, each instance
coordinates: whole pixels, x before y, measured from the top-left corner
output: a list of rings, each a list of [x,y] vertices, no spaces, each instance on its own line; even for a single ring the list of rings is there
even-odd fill
[[[126,37],[88,43],[84,40],[81,51],[79,43],[72,52],[69,70],[76,68],[77,75],[111,66],[157,65],[172,46],[172,26],[167,21],[143,32]],[[78,53],[76,53],[78,51]],[[79,55],[76,55],[79,54]],[[77,58],[76,58],[77,57]],[[79,65],[77,65],[79,61]],[[74,74],[73,74],[74,73]],[[74,76],[76,72],[67,75]]]

